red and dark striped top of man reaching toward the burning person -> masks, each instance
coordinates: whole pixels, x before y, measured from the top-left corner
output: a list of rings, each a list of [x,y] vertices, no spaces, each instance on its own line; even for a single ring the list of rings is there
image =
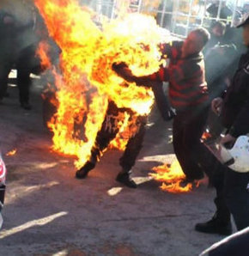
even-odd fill
[[[150,76],[137,77],[138,84],[146,85],[146,80],[169,82],[169,98],[176,110],[207,104],[208,88],[205,82],[203,54],[196,53],[181,58],[182,42],[161,45],[162,57],[170,59],[167,67],[161,67]]]

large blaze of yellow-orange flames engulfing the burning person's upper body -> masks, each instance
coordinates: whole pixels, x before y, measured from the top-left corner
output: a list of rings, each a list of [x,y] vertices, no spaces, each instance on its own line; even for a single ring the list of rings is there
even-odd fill
[[[92,21],[93,11],[76,0],[35,0],[35,4],[62,51],[60,70],[55,71],[58,109],[49,122],[53,149],[75,155],[76,167],[81,167],[90,157],[108,101],[134,113],[132,118],[126,113],[117,124],[120,132],[112,146],[124,149],[136,132],[130,120],[148,115],[154,98],[150,89],[118,77],[112,63],[124,61],[137,76],[158,70],[160,27],[153,17],[129,14],[114,21],[102,19],[100,28]],[[125,133],[128,136],[121,143]]]

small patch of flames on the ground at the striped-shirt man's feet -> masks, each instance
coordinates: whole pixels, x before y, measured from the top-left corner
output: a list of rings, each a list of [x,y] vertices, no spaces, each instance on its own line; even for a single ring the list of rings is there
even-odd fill
[[[152,168],[156,174],[150,174],[155,180],[162,181],[161,190],[167,192],[190,192],[192,189],[191,183],[186,186],[181,186],[180,182],[185,179],[185,174],[179,165],[178,161],[174,161],[171,165],[164,164]]]

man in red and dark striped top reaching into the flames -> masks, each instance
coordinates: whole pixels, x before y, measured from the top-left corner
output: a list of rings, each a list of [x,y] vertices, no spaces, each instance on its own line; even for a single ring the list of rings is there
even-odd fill
[[[162,56],[167,55],[170,63],[149,76],[134,76],[124,63],[112,65],[118,76],[137,85],[154,87],[160,84],[155,81],[169,82],[169,99],[176,110],[173,149],[186,181],[202,179],[203,171],[210,176],[214,168],[206,158],[212,160],[215,156],[207,152],[200,141],[209,108],[201,51],[209,39],[210,34],[201,27],[193,30],[182,42],[162,45]]]

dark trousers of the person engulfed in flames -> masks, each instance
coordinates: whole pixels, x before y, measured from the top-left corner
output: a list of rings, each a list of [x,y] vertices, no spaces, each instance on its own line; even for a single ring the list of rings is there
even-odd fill
[[[118,113],[131,112],[131,110],[120,109],[112,101],[108,105],[106,118],[97,133],[94,148],[91,150],[91,160],[94,164],[100,159],[102,152],[108,147],[109,143],[118,134]],[[136,120],[137,132],[133,137],[130,137],[125,147],[125,152],[119,159],[119,164],[124,171],[129,172],[134,166],[137,155],[142,149],[143,137],[145,134],[146,117],[138,116]]]

